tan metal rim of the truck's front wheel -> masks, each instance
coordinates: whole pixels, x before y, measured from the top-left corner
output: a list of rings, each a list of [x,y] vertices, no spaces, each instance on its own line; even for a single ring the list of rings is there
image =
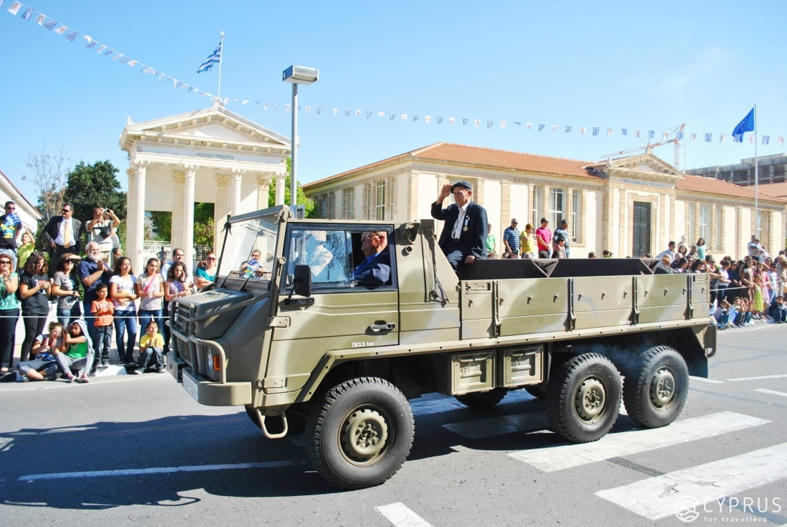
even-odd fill
[[[339,444],[349,461],[357,464],[375,463],[389,444],[388,422],[375,408],[351,411],[339,429]]]

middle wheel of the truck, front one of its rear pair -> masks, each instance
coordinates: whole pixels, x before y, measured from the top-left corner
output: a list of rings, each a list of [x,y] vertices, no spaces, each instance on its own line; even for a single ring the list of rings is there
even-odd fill
[[[598,440],[618,418],[620,392],[620,374],[611,360],[597,353],[575,356],[549,380],[549,424],[575,443]]]

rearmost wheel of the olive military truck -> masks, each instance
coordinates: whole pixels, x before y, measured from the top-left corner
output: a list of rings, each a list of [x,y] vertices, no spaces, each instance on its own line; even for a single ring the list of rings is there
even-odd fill
[[[626,412],[645,428],[667,426],[678,418],[689,395],[689,368],[669,346],[646,349],[639,361],[623,381]]]

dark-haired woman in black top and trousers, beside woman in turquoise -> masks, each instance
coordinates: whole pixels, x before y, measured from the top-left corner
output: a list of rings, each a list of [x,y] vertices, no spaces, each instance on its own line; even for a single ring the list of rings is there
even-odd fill
[[[46,274],[46,262],[42,252],[34,251],[24,264],[19,278],[19,296],[22,299],[24,341],[20,362],[30,358],[35,337],[44,332],[46,316],[49,315],[49,294],[52,282]]]

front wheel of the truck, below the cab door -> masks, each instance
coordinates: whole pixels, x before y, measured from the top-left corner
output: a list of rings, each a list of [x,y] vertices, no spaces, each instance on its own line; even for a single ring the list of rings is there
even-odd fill
[[[331,484],[379,485],[405,463],[415,420],[407,399],[389,381],[350,379],[325,392],[314,408],[306,424],[306,453]]]

